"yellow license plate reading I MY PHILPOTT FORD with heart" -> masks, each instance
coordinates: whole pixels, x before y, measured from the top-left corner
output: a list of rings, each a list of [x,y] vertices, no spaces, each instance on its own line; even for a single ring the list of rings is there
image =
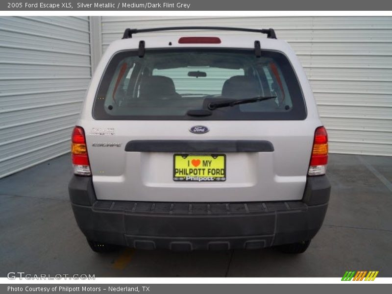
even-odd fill
[[[226,180],[225,154],[174,154],[173,180],[213,182]]]

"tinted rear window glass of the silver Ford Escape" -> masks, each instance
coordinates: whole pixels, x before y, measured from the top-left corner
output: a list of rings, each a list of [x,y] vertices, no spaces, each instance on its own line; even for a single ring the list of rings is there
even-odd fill
[[[234,106],[209,105],[270,97]],[[195,116],[195,111],[197,115]],[[122,51],[107,66],[94,103],[97,120],[303,120],[302,91],[287,57],[235,49]]]

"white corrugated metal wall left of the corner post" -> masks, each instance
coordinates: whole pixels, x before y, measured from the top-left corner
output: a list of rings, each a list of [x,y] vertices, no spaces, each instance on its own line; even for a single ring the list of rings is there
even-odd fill
[[[88,17],[0,18],[0,177],[69,152],[90,78]]]

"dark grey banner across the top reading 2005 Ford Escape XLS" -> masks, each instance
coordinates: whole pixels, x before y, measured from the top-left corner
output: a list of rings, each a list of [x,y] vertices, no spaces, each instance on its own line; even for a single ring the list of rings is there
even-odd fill
[[[387,0],[5,0],[2,11],[388,11]]]

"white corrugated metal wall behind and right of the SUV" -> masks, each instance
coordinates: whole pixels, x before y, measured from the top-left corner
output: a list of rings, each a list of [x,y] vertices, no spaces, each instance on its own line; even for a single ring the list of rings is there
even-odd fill
[[[392,156],[392,17],[102,17],[102,49],[126,27],[175,25],[273,27],[306,70],[330,152]]]

